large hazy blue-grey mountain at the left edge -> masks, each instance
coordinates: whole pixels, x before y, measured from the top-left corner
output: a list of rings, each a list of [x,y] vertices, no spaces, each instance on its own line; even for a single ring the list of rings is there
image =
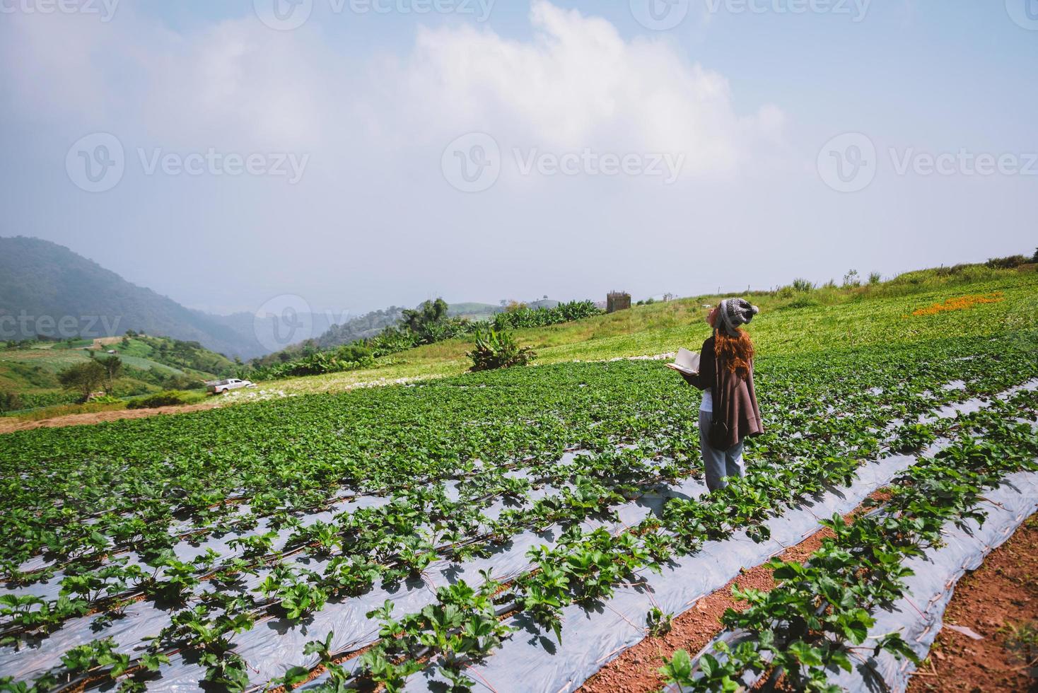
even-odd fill
[[[252,316],[229,321],[186,308],[130,283],[97,262],[50,241],[0,238],[0,338],[113,336],[127,330],[198,341],[250,358],[266,353]],[[72,334],[67,334],[67,333]]]

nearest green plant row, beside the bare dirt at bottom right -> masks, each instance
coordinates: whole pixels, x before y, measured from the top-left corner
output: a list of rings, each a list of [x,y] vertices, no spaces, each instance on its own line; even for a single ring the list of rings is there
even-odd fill
[[[824,522],[834,535],[803,564],[770,561],[774,589],[733,588],[749,606],[729,609],[722,622],[748,639],[735,647],[718,642],[694,666],[679,652],[661,672],[687,691],[735,691],[753,672],[770,673],[772,683],[782,677],[793,690],[835,693],[841,689],[828,683],[830,671],[849,672],[854,660],[880,650],[919,664],[899,633],[869,637],[870,612],[903,597],[911,575],[903,561],[940,547],[946,525],[983,523],[986,490],[1007,474],[1038,471],[1036,419],[1038,394],[1030,391],[965,417],[965,437],[895,479],[890,498],[871,503],[878,511]]]

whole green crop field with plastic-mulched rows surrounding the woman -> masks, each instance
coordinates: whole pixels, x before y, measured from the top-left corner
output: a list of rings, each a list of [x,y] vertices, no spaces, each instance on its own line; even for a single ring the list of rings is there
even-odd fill
[[[662,362],[573,362],[698,346],[692,301],[651,306],[674,324],[650,330],[524,333],[538,367],[453,375],[437,344],[393,371],[435,380],[4,435],[4,685],[573,690],[828,526],[725,616],[738,642],[675,655],[664,678],[857,690],[847,676],[926,654],[872,630],[902,566],[1038,476],[1036,283],[762,305],[767,433],[714,493],[695,391]],[[880,489],[875,511],[829,520]]]

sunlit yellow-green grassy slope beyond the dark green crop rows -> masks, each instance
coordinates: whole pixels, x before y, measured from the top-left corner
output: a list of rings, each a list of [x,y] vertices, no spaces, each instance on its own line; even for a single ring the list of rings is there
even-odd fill
[[[948,299],[996,293],[1002,296],[993,303],[911,315]],[[947,276],[928,270],[855,288],[742,296],[761,307],[761,314],[748,328],[760,355],[982,334],[985,328],[981,324],[990,324],[992,318],[1006,330],[1038,324],[1035,266],[1003,271],[973,266]],[[657,355],[681,346],[698,350],[709,336],[704,322],[707,306],[715,305],[719,298],[699,296],[634,306],[574,323],[516,330],[515,334],[520,343],[537,351],[535,363],[539,364]],[[470,341],[452,339],[386,357],[375,368],[284,379],[263,386],[295,393],[333,392],[359,384],[455,376],[471,365],[465,356],[470,349]]]

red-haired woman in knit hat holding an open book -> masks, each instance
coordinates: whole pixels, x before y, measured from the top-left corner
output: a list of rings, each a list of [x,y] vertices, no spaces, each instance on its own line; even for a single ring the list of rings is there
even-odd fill
[[[721,301],[707,314],[714,333],[703,342],[700,371],[678,371],[703,390],[700,447],[710,491],[727,487],[729,476],[743,475],[742,442],[764,433],[754,391],[754,343],[739,329],[758,312],[743,299]]]

